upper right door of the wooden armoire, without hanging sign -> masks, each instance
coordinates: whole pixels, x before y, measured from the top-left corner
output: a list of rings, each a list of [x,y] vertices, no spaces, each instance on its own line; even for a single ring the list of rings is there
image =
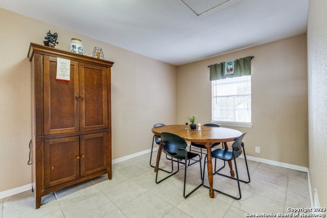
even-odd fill
[[[80,63],[80,130],[108,127],[108,68]]]

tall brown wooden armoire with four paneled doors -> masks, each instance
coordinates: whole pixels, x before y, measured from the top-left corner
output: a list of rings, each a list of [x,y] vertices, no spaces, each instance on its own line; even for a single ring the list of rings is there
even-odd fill
[[[113,62],[35,43],[30,44],[28,58],[32,190],[37,209],[41,198],[51,192],[103,174],[111,179]],[[57,60],[70,65],[64,80]]]

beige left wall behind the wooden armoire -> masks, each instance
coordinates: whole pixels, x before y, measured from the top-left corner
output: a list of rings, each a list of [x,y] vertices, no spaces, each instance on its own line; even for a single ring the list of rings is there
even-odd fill
[[[153,124],[176,123],[175,66],[4,9],[0,20],[0,192],[31,183],[27,53],[30,42],[42,44],[49,30],[58,33],[58,49],[67,50],[71,38],[80,38],[85,53],[101,47],[105,59],[115,62],[111,69],[113,159],[150,149]]]

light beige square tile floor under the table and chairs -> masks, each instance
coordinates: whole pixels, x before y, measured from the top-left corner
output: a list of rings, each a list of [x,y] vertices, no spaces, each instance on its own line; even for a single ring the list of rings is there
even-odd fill
[[[156,157],[156,152],[153,153]],[[149,166],[150,154],[113,164],[112,180],[101,176],[42,197],[35,210],[32,191],[0,199],[1,218],[14,217],[249,217],[257,213],[291,213],[287,208],[310,207],[307,173],[248,161],[251,182],[241,183],[242,199],[233,200],[200,187],[183,198],[183,172],[159,183]],[[238,158],[239,171],[245,169]],[[169,161],[161,161],[162,168]],[[202,165],[203,166],[203,165]],[[188,168],[187,190],[200,183],[199,164]],[[225,169],[223,169],[225,171]],[[226,171],[227,169],[226,169]],[[159,177],[166,174],[159,171]],[[240,177],[245,179],[244,170]],[[191,178],[192,177],[192,178]],[[207,178],[207,176],[206,176]],[[207,181],[206,181],[207,184]],[[237,194],[237,183],[214,176],[214,187]],[[187,191],[186,190],[186,191]]]

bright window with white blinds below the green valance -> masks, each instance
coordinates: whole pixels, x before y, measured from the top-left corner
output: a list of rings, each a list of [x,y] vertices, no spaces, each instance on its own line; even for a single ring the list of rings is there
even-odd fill
[[[251,127],[251,76],[212,81],[212,119],[220,124]]]

